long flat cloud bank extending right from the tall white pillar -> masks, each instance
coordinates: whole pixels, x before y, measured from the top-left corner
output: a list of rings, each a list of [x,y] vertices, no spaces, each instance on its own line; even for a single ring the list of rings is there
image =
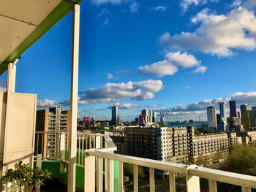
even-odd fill
[[[154,98],[154,93],[162,90],[161,80],[146,80],[127,83],[108,82],[101,88],[89,88],[80,92],[79,104],[113,102],[121,99],[146,100]]]

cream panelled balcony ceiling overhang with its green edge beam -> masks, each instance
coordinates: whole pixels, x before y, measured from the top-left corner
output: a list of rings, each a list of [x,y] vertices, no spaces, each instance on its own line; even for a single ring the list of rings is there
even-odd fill
[[[0,74],[82,0],[1,0]]]

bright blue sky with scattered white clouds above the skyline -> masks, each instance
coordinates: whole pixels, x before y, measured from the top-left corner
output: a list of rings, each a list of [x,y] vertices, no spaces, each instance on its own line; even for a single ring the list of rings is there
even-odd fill
[[[253,0],[91,0],[80,4],[79,116],[144,108],[206,120],[206,107],[256,105]],[[69,109],[72,13],[21,55],[16,92]],[[6,74],[0,77],[4,87]],[[217,107],[219,110],[219,107]]]

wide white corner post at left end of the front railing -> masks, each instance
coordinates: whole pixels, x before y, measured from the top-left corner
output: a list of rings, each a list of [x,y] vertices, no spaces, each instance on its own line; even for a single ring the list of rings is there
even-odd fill
[[[84,163],[84,191],[95,192],[95,157],[85,154]]]

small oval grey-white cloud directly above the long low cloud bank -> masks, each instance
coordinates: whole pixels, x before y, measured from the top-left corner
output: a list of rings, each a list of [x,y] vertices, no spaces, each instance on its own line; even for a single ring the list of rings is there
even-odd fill
[[[157,63],[151,65],[140,66],[138,72],[144,75],[155,75],[157,77],[163,77],[167,74],[175,74],[178,72],[178,68],[165,59],[164,61],[158,61]]]

